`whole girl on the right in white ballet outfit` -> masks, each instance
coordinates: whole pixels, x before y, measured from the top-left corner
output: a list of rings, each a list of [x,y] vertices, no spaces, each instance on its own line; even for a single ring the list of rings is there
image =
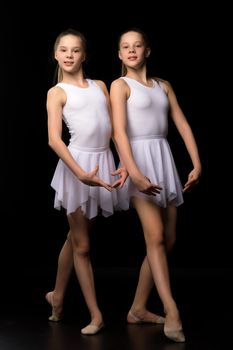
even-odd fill
[[[129,173],[120,195],[125,205],[129,206],[131,201],[139,215],[147,250],[127,320],[164,322],[165,335],[175,342],[184,342],[182,322],[170,288],[166,253],[176,237],[176,208],[183,202],[183,191],[198,182],[201,162],[193,133],[171,85],[148,77],[149,55],[145,33],[135,28],[124,32],[119,39],[123,76],[112,82],[110,90],[114,139]],[[169,116],[193,163],[183,188],[166,139]],[[153,284],[163,303],[165,320],[146,309]]]

